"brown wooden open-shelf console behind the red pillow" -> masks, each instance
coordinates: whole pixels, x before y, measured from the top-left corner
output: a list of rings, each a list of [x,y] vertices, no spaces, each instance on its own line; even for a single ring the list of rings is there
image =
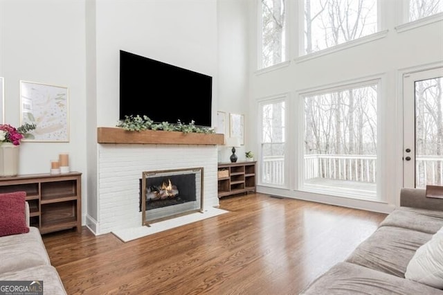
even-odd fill
[[[30,226],[40,233],[82,229],[82,173],[35,174],[0,178],[0,193],[26,192]]]

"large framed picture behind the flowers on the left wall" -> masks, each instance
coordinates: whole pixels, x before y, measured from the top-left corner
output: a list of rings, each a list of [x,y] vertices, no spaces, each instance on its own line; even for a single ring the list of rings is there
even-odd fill
[[[21,124],[37,127],[26,141],[69,142],[67,87],[20,81]]]

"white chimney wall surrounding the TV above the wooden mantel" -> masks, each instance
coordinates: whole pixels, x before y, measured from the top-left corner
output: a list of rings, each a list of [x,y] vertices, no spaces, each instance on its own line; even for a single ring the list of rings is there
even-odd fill
[[[211,75],[217,83],[216,4],[190,0],[97,1],[98,126],[115,126],[118,120],[120,49]],[[214,96],[217,100],[217,93]]]

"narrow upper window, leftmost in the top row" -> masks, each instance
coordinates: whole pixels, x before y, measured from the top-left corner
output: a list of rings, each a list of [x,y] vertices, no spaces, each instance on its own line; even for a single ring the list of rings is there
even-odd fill
[[[279,64],[286,60],[286,1],[261,0],[261,48],[260,68]]]

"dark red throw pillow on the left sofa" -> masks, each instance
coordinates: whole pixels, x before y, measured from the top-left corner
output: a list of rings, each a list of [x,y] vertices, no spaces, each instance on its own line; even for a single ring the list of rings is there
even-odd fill
[[[0,237],[28,233],[25,217],[26,192],[0,194]]]

